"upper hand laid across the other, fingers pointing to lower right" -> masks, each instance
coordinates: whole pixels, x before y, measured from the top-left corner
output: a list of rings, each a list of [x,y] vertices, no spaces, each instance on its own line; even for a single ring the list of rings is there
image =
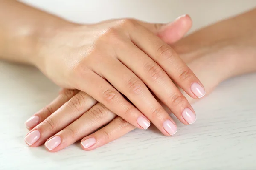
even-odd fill
[[[205,91],[161,34],[154,34],[157,28],[132,19],[63,26],[39,39],[34,63],[57,85],[84,91],[135,127],[147,129],[151,121],[170,136],[175,122],[148,88],[186,125],[195,122],[195,112],[171,78],[192,98]]]

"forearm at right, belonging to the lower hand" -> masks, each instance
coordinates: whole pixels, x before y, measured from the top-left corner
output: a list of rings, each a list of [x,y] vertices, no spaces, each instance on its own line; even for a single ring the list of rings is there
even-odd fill
[[[202,28],[175,46],[185,59],[217,55],[224,79],[256,71],[256,9]]]

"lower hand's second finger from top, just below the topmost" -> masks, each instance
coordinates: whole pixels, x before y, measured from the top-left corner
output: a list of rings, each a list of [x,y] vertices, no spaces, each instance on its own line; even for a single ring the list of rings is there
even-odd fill
[[[34,127],[24,138],[25,142],[31,147],[41,145],[49,137],[78,119],[96,103],[95,99],[80,91],[43,122]]]

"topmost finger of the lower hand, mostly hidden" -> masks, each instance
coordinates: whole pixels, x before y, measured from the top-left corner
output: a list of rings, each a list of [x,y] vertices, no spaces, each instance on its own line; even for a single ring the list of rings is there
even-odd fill
[[[66,103],[70,98],[76,95],[79,91],[78,90],[70,90],[64,89],[62,90],[58,97],[56,97],[49,105],[42,108],[40,111],[35,113],[32,117],[30,117],[26,122],[25,125],[28,130],[31,130],[36,125],[44,121],[48,116],[54,113],[58,108],[60,108],[64,103]]]

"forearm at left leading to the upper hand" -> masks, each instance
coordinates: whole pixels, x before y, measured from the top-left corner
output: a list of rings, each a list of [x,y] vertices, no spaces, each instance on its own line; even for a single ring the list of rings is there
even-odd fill
[[[15,0],[0,0],[0,59],[32,64],[40,34],[66,23]]]

